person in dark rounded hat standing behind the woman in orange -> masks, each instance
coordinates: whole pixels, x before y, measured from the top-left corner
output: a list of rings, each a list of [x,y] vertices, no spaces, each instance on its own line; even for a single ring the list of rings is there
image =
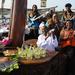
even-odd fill
[[[72,5],[70,3],[67,3],[65,5],[66,11],[63,12],[63,17],[62,17],[63,21],[71,20],[73,18],[74,12],[72,12],[71,7]]]

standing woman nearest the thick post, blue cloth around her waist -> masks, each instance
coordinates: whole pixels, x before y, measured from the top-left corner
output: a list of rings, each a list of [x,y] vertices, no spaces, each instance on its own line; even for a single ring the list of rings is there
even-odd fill
[[[37,38],[38,37],[38,28],[40,22],[38,20],[35,20],[36,17],[38,17],[40,14],[37,9],[37,5],[32,6],[32,10],[28,14],[28,27],[30,28],[30,37],[31,38]]]

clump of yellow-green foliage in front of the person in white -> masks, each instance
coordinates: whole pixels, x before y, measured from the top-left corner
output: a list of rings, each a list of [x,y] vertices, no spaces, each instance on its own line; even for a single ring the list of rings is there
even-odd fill
[[[46,57],[47,52],[46,50],[39,48],[39,47],[26,47],[25,49],[17,48],[19,57],[24,59],[39,59],[42,57]]]

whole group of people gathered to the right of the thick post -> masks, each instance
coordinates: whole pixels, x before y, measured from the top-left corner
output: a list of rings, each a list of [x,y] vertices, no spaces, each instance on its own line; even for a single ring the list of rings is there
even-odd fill
[[[67,3],[61,19],[56,12],[49,12],[40,16],[37,6],[33,5],[28,14],[28,25],[31,38],[37,38],[37,46],[49,51],[55,51],[58,46],[62,48],[75,46],[75,15],[72,5]]]

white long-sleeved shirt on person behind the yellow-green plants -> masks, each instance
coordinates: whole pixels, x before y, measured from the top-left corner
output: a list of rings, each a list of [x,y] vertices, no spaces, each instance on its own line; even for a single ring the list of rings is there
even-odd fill
[[[58,47],[57,37],[55,36],[55,39],[53,39],[51,35],[45,40],[45,35],[41,34],[38,37],[37,46],[45,50],[55,51],[55,48]]]

